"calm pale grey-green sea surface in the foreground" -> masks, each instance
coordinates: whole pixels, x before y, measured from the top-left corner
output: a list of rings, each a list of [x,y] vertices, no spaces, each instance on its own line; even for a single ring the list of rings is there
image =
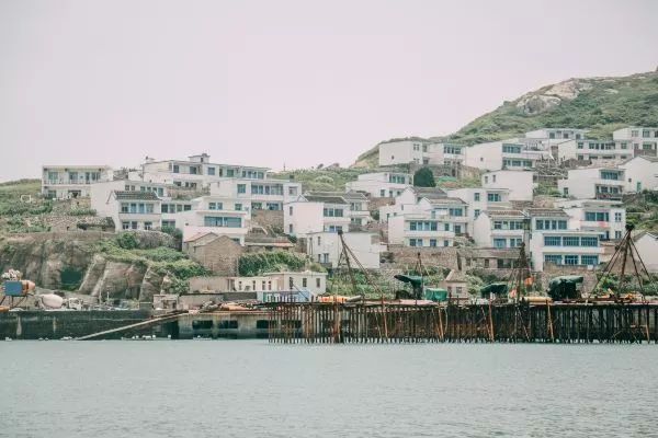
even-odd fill
[[[0,342],[0,436],[658,436],[658,346]]]

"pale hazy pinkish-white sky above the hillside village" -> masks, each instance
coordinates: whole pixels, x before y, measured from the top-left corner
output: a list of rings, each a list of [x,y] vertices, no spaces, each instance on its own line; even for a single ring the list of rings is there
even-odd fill
[[[658,1],[0,0],[0,180],[145,155],[273,169],[658,66]]]

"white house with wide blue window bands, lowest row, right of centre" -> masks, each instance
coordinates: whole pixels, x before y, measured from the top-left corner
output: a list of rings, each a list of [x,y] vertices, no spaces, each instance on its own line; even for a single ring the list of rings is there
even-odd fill
[[[599,234],[581,230],[533,231],[529,250],[534,270],[544,270],[546,263],[593,268],[603,254]]]

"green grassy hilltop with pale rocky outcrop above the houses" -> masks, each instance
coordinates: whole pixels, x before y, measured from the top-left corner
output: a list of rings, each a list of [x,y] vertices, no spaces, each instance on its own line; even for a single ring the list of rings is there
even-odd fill
[[[445,137],[467,146],[522,136],[543,127],[589,128],[592,138],[609,138],[627,125],[658,126],[658,71],[619,78],[569,79],[503,102]],[[389,140],[392,141],[392,140]],[[377,147],[361,154],[354,166],[373,166]]]

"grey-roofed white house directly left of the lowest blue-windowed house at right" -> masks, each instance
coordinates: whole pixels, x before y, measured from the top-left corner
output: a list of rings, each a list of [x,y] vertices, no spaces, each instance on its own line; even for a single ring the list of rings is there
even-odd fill
[[[473,226],[473,239],[484,247],[517,247],[525,237],[526,217],[519,210],[486,210]]]

